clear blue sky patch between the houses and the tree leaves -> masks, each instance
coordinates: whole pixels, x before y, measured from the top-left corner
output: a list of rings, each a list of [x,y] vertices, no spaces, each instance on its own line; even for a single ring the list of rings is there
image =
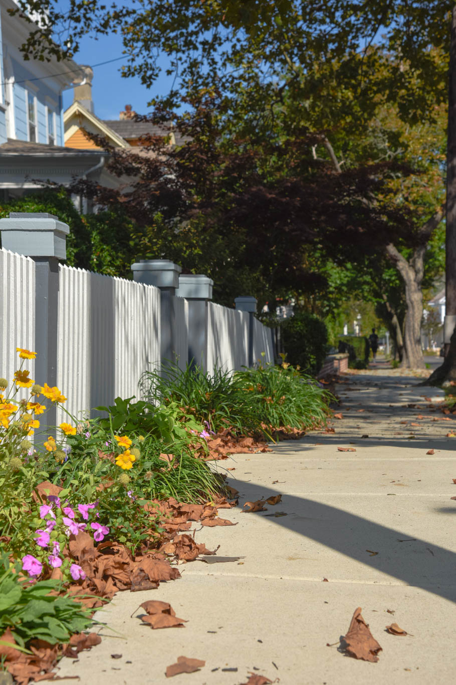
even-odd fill
[[[85,36],[81,40],[81,49],[74,60],[79,64],[97,64],[122,57],[122,38],[112,34],[100,36],[98,40]],[[164,62],[163,58],[162,62]],[[172,77],[163,74],[151,90],[143,86],[139,78],[123,78],[120,75],[122,60],[112,64],[103,64],[94,68],[92,82],[92,98],[95,114],[100,119],[118,119],[119,112],[125,105],[133,106],[138,114],[146,114],[149,110],[148,101],[156,95],[164,95],[172,85]],[[73,90],[65,90],[64,109],[73,101]]]

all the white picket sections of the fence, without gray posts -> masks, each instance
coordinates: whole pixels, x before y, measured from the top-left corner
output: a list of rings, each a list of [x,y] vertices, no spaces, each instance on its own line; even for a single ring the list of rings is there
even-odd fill
[[[249,363],[249,314],[206,305],[206,369]],[[172,297],[173,353],[185,369],[189,307]],[[143,371],[161,367],[161,292],[155,286],[59,266],[57,386],[66,410],[81,419],[115,397],[139,397]],[[35,262],[0,249],[0,377],[12,382],[16,347],[35,347]],[[273,362],[271,329],[254,319],[254,360]],[[38,351],[39,353],[39,351]],[[264,353],[262,355],[262,353]],[[33,378],[34,362],[27,362]],[[57,423],[69,421],[57,411]]]

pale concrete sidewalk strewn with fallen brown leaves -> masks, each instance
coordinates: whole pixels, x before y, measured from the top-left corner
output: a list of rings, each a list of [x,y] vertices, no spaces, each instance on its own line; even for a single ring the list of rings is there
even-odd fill
[[[417,383],[385,370],[351,375],[338,386],[334,434],[236,455],[228,466],[239,508],[222,516],[238,525],[203,528],[196,540],[241,560],[192,562],[158,590],[118,593],[96,614],[116,632],[100,630],[102,643],[76,663],[62,660],[59,675],[83,685],[162,684],[167,665],[185,655],[206,661],[175,677],[188,685],[239,685],[248,672],[281,685],[453,682],[456,438],[446,433],[456,420],[433,421],[444,415],[422,396],[443,394]],[[241,513],[245,501],[279,493],[267,511]],[[152,631],[136,617],[142,610],[131,617],[146,599],[169,601],[185,628]],[[376,664],[326,646],[358,606],[383,647]],[[410,635],[387,634],[393,622]]]

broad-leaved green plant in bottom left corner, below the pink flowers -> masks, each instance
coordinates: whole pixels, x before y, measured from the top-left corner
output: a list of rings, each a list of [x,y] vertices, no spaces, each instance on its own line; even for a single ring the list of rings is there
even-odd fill
[[[68,642],[92,623],[90,611],[65,595],[50,594],[61,589],[58,580],[38,580],[32,585],[19,577],[21,564],[12,566],[3,554],[0,566],[0,634],[10,628],[21,647],[30,640],[46,640],[54,645]]]

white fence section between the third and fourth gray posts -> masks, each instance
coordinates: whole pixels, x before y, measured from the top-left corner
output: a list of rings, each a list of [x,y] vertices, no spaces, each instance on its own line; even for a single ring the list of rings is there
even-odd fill
[[[248,366],[249,314],[219,304],[207,306],[206,369],[239,371]]]

